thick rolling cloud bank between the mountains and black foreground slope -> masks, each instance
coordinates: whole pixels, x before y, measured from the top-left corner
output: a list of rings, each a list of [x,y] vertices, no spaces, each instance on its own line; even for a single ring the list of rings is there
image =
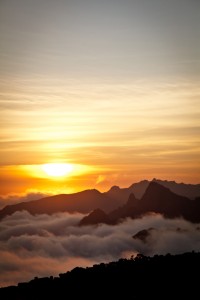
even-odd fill
[[[145,255],[200,250],[200,224],[161,215],[127,219],[116,225],[78,227],[82,214],[32,216],[16,212],[0,223],[0,286],[35,276],[57,276],[76,266]],[[133,238],[154,228],[143,241]]]

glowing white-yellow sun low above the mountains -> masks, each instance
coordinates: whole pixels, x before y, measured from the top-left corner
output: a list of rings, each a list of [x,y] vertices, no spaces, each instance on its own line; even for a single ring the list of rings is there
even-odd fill
[[[71,164],[49,163],[42,166],[43,171],[51,177],[62,177],[68,175],[72,170]]]

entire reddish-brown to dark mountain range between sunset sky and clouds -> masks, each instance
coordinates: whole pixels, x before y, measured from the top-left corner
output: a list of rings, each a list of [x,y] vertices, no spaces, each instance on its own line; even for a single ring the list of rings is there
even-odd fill
[[[178,184],[158,179],[153,179],[152,182],[144,180],[128,188],[113,186],[105,193],[93,189],[7,205],[0,210],[0,219],[22,210],[31,214],[53,214],[90,213],[100,209],[105,213],[97,211],[95,216],[100,221],[106,219],[107,223],[128,216],[135,217],[149,211],[163,213],[168,217],[182,216],[188,220],[198,221],[199,200],[198,198],[194,200],[198,196],[200,196],[200,184]],[[94,214],[90,217],[95,219]]]

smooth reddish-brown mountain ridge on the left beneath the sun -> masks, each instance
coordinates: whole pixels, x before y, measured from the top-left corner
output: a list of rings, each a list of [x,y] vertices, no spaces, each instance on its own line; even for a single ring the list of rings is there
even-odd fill
[[[89,213],[93,209],[103,209],[106,212],[116,208],[117,202],[97,190],[86,190],[74,194],[63,194],[51,197],[7,205],[0,210],[0,219],[16,211],[26,210],[31,214],[53,214],[56,212]]]

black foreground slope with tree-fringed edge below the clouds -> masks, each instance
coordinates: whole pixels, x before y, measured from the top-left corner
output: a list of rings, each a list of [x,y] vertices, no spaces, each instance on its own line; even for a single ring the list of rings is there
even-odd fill
[[[195,299],[200,253],[120,259],[0,289],[1,299]]]

